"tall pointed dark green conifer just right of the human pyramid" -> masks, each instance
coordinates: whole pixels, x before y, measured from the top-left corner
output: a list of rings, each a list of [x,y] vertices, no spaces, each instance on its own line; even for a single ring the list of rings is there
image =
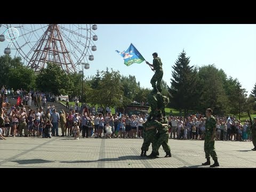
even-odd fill
[[[171,106],[185,111],[185,116],[188,115],[188,110],[194,106],[195,101],[195,84],[196,71],[194,66],[189,66],[189,57],[186,57],[186,52],[183,50],[175,65],[172,66],[172,78],[170,92]]]

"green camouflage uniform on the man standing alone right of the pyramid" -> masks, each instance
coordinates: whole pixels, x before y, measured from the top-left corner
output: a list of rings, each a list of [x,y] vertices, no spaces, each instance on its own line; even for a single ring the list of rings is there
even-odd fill
[[[216,120],[213,116],[210,119],[206,118],[205,122],[205,138],[204,138],[204,152],[205,158],[210,159],[210,155],[214,161],[218,160],[214,148],[214,141],[211,141],[213,130],[215,129]]]

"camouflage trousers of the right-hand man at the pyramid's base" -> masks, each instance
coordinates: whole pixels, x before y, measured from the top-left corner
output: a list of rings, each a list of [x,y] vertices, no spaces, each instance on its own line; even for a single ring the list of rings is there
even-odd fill
[[[152,143],[152,150],[155,153],[158,153],[160,146],[162,145],[165,152],[171,151],[170,146],[168,145],[169,133],[157,133],[155,142]]]

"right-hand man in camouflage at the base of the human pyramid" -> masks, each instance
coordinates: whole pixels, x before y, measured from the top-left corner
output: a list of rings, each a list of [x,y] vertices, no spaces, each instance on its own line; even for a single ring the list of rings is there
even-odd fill
[[[148,127],[148,131],[151,129],[157,129],[156,139],[152,143],[152,153],[148,156],[149,158],[155,158],[157,155],[159,155],[158,150],[160,146],[162,145],[166,155],[165,157],[171,157],[171,149],[168,145],[168,138],[169,138],[169,124],[167,121],[164,121],[163,118],[161,118],[161,115],[158,115],[155,118],[154,123],[152,123],[151,127]]]

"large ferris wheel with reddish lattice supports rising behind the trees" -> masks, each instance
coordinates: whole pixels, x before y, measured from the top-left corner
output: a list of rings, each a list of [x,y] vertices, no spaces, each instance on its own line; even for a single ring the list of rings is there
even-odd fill
[[[91,24],[0,24],[4,54],[21,57],[35,72],[57,63],[67,73],[78,72],[94,60],[97,25]],[[3,53],[0,53],[0,55]]]

